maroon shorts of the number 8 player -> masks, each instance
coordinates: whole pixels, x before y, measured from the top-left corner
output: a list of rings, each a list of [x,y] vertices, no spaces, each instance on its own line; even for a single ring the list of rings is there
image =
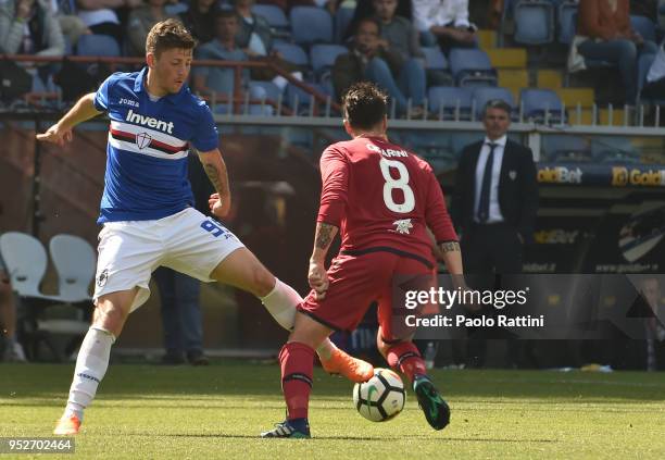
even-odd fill
[[[393,298],[399,298],[396,283],[413,279],[418,289],[436,285],[434,265],[427,259],[387,251],[340,254],[332,259],[328,279],[326,297],[316,300],[312,290],[298,310],[332,330],[353,331],[372,302],[377,301],[379,326],[387,341],[407,338],[414,332],[399,320],[413,312],[407,311],[403,302],[393,304]]]

